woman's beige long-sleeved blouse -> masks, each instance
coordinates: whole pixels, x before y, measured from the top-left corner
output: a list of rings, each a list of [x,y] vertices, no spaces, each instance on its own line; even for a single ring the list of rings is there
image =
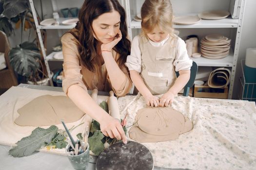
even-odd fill
[[[132,86],[132,81],[130,79],[129,70],[124,63],[120,64],[117,62],[119,68],[125,73],[126,78],[121,87],[115,89],[111,85],[104,63],[98,63],[95,72],[91,72],[82,65],[78,47],[76,45],[76,39],[72,34],[64,34],[61,38],[61,42],[64,57],[62,88],[66,94],[71,85],[79,85],[86,91],[87,89],[93,90],[94,88],[97,88],[99,91],[113,90],[117,96],[125,96],[129,92]],[[112,54],[115,61],[117,61],[120,57],[119,53],[112,50]]]

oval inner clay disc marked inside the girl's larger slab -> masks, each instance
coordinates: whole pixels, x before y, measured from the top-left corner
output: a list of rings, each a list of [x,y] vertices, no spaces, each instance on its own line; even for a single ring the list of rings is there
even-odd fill
[[[179,133],[185,119],[182,113],[171,107],[142,108],[135,117],[139,129],[156,136]]]

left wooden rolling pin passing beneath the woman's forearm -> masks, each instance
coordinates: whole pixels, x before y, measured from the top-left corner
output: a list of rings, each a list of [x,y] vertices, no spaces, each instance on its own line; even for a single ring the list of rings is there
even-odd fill
[[[95,102],[97,102],[97,96],[98,96],[98,90],[93,89],[91,97],[93,98],[93,100]],[[88,142],[88,136],[89,136],[89,132],[90,132],[91,125],[92,125],[92,120],[93,119],[88,114],[85,115],[84,125],[83,125],[83,133],[82,133],[84,143]]]

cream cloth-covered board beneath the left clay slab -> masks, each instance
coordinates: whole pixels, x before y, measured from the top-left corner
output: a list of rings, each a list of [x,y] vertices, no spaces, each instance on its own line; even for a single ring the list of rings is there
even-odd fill
[[[41,95],[65,96],[64,92],[30,89],[25,87],[11,87],[0,96],[0,144],[13,146],[22,137],[31,135],[31,132],[37,128],[35,126],[19,126],[14,121],[19,117],[17,110]],[[105,101],[107,96],[98,96],[98,104]],[[66,123],[68,129],[77,126],[85,119],[85,115],[78,121]],[[59,129],[63,129],[62,124],[56,125]],[[40,126],[48,128],[50,126]],[[82,132],[82,125],[74,129],[71,135],[76,139],[76,135]],[[42,148],[40,152],[56,153],[65,155],[64,149],[46,150]]]

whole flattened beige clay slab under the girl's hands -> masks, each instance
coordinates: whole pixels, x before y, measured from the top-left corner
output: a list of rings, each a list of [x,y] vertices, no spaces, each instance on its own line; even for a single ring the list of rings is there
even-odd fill
[[[129,130],[129,136],[138,142],[175,140],[193,128],[191,120],[171,107],[140,109],[135,122]]]

